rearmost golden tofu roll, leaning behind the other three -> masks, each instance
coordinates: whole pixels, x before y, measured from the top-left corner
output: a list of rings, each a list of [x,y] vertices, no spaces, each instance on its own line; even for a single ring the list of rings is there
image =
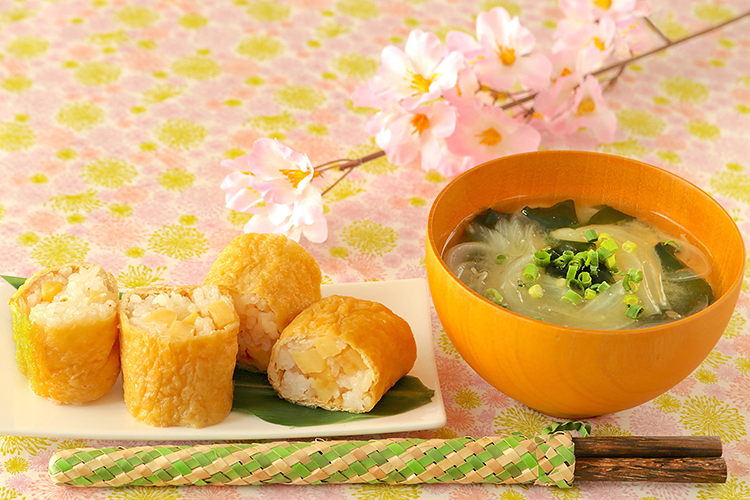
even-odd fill
[[[320,299],[320,266],[281,234],[243,234],[219,254],[207,285],[229,289],[240,316],[237,366],[264,372],[281,331]]]

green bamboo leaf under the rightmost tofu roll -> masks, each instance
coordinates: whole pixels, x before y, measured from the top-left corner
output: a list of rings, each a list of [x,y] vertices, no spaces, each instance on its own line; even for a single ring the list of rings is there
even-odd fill
[[[435,391],[425,387],[417,377],[407,375],[396,382],[368,413],[329,411],[308,408],[281,399],[271,387],[265,373],[236,370],[233,409],[250,413],[272,424],[307,427],[398,415],[426,405],[434,394]]]

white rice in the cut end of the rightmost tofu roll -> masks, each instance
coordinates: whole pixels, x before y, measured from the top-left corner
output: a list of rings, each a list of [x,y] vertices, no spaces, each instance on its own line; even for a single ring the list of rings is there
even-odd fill
[[[279,351],[277,365],[283,375],[281,378],[280,393],[284,398],[293,401],[317,402],[321,400],[314,386],[314,375],[305,375],[299,369],[292,358],[292,352],[301,352],[312,348],[313,341],[290,341]],[[340,353],[326,358],[328,370],[334,377],[338,388],[334,391],[332,398],[322,403],[334,402],[343,404],[350,411],[364,411],[372,405],[372,397],[366,395],[372,385],[372,371],[370,369],[357,370],[347,375],[344,373],[340,363],[340,356],[348,345],[342,340],[336,340],[336,346],[341,349]]]

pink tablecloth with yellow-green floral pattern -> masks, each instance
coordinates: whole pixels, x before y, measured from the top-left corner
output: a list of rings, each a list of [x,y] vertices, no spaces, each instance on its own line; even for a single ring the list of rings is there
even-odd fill
[[[87,260],[122,288],[201,282],[247,221],[224,207],[222,159],[261,137],[313,164],[375,151],[364,131],[369,111],[350,94],[375,73],[383,47],[403,47],[415,28],[471,31],[477,13],[498,5],[549,46],[560,18],[552,0],[0,0],[0,272],[28,276]],[[670,0],[653,6],[652,19],[676,39],[747,8],[741,0]],[[542,147],[667,169],[750,231],[750,20],[638,61],[606,96],[619,127],[614,143],[579,132],[543,134]],[[325,282],[425,277],[427,213],[446,182],[379,159],[338,184],[325,195],[327,241],[303,240]],[[725,484],[85,490],[51,484],[52,453],[119,443],[0,436],[0,499],[745,500],[749,299],[743,291],[716,349],[677,387],[590,419],[597,436],[721,436]],[[433,335],[448,422],[412,436],[536,433],[552,422],[479,378],[434,311]]]

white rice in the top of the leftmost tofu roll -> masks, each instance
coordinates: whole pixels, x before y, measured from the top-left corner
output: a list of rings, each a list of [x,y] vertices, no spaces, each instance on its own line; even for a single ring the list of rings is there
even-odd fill
[[[100,267],[70,266],[47,273],[34,284],[26,299],[32,322],[47,328],[69,328],[74,324],[105,321],[117,312],[117,292],[107,288]],[[51,302],[42,300],[42,283],[57,281],[62,291]]]

